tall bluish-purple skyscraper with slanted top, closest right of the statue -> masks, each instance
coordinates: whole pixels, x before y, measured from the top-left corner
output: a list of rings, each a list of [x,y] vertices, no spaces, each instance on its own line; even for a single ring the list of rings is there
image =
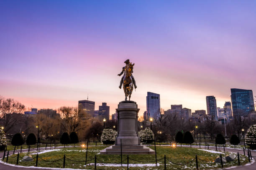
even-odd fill
[[[148,92],[147,93],[147,119],[150,117],[157,118],[160,116],[160,95]]]

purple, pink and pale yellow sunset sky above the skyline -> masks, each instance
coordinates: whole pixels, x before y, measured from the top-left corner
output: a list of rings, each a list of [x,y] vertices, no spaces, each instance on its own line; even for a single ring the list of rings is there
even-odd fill
[[[256,1],[1,1],[0,95],[26,107],[102,102],[110,115],[124,92],[123,63],[134,62],[131,100],[206,110],[230,88],[256,95]]]

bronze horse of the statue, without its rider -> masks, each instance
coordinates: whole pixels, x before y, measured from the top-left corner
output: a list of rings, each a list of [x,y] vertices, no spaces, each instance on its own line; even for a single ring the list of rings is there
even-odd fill
[[[125,76],[123,78],[123,91],[125,92],[125,101],[127,101],[127,96],[129,95],[129,101],[131,98],[131,94],[133,92],[133,80],[131,78],[131,74],[133,71],[133,65],[131,62],[125,66]]]

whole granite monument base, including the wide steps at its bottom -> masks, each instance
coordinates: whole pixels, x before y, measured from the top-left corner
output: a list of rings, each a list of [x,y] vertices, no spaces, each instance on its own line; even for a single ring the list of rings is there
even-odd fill
[[[134,101],[119,102],[116,109],[118,114],[118,135],[115,145],[100,151],[100,154],[120,154],[121,143],[123,154],[155,154],[155,151],[141,145],[138,137],[138,105]]]

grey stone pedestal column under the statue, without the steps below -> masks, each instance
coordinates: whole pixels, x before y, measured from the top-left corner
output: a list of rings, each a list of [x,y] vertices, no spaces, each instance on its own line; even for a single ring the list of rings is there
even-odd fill
[[[138,105],[133,101],[119,102],[118,108],[118,135],[115,145],[141,145],[138,137]]]

